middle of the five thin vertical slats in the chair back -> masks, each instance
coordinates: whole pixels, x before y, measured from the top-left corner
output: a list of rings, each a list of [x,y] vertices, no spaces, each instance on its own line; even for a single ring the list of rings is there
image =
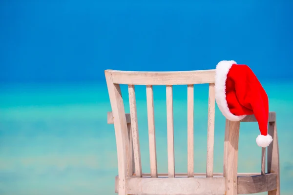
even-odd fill
[[[173,89],[171,85],[166,86],[167,96],[167,147],[168,147],[168,176],[175,176],[174,160],[174,128],[173,128]]]

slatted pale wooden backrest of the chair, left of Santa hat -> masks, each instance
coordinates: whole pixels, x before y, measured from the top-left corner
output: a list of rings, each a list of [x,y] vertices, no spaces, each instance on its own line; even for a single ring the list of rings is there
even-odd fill
[[[208,148],[207,148],[207,177],[213,176],[213,148],[214,148],[214,116],[215,116],[215,70],[180,71],[180,72],[131,72],[106,70],[105,78],[111,102],[113,122],[115,128],[119,185],[123,185],[121,178],[132,176],[129,161],[134,157],[135,176],[142,176],[140,144],[137,124],[137,110],[134,85],[146,85],[147,122],[149,134],[150,176],[157,177],[157,156],[154,124],[153,85],[166,85],[167,98],[167,159],[168,177],[175,176],[174,166],[174,134],[173,134],[173,95],[172,85],[188,85],[188,177],[194,175],[193,163],[193,86],[194,84],[209,83],[208,106]],[[128,142],[126,113],[120,90],[120,84],[128,85],[130,120],[133,148]],[[133,156],[129,150],[133,149]],[[128,162],[128,163],[127,163]],[[120,181],[121,180],[121,181]]]

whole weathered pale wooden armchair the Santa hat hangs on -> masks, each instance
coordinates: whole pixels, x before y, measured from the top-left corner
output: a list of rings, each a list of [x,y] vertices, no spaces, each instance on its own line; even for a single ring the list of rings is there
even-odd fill
[[[269,134],[273,141],[268,147],[265,173],[266,148],[262,148],[258,174],[237,173],[238,139],[240,122],[256,122],[254,116],[241,121],[226,120],[224,146],[224,173],[213,173],[214,116],[215,116],[215,70],[181,72],[128,72],[106,70],[105,78],[112,112],[108,113],[108,123],[114,124],[118,176],[115,192],[119,195],[237,195],[268,192],[280,195],[279,149],[276,115],[269,113]],[[193,86],[209,83],[207,171],[194,173],[193,143]],[[125,113],[120,84],[128,85],[130,114]],[[146,85],[147,120],[149,136],[150,173],[142,172],[140,144],[137,124],[135,85]],[[168,173],[157,172],[157,156],[154,126],[153,85],[166,85],[167,92],[167,167]],[[172,85],[188,85],[188,173],[175,173],[173,98]]]

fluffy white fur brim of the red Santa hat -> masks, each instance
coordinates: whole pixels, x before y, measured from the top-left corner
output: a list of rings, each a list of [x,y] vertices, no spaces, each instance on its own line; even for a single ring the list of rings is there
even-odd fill
[[[226,100],[226,79],[229,70],[233,64],[237,63],[233,60],[223,60],[217,64],[215,74],[215,99],[220,111],[228,120],[239,121],[246,117],[246,115],[235,116],[232,113],[230,113],[228,103]]]

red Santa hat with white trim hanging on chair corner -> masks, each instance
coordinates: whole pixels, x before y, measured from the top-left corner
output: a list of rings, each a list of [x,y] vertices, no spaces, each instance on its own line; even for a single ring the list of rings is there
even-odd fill
[[[254,115],[260,130],[256,143],[267,147],[272,142],[268,134],[268,96],[247,65],[235,61],[220,61],[216,66],[215,98],[222,114],[230,121]]]

